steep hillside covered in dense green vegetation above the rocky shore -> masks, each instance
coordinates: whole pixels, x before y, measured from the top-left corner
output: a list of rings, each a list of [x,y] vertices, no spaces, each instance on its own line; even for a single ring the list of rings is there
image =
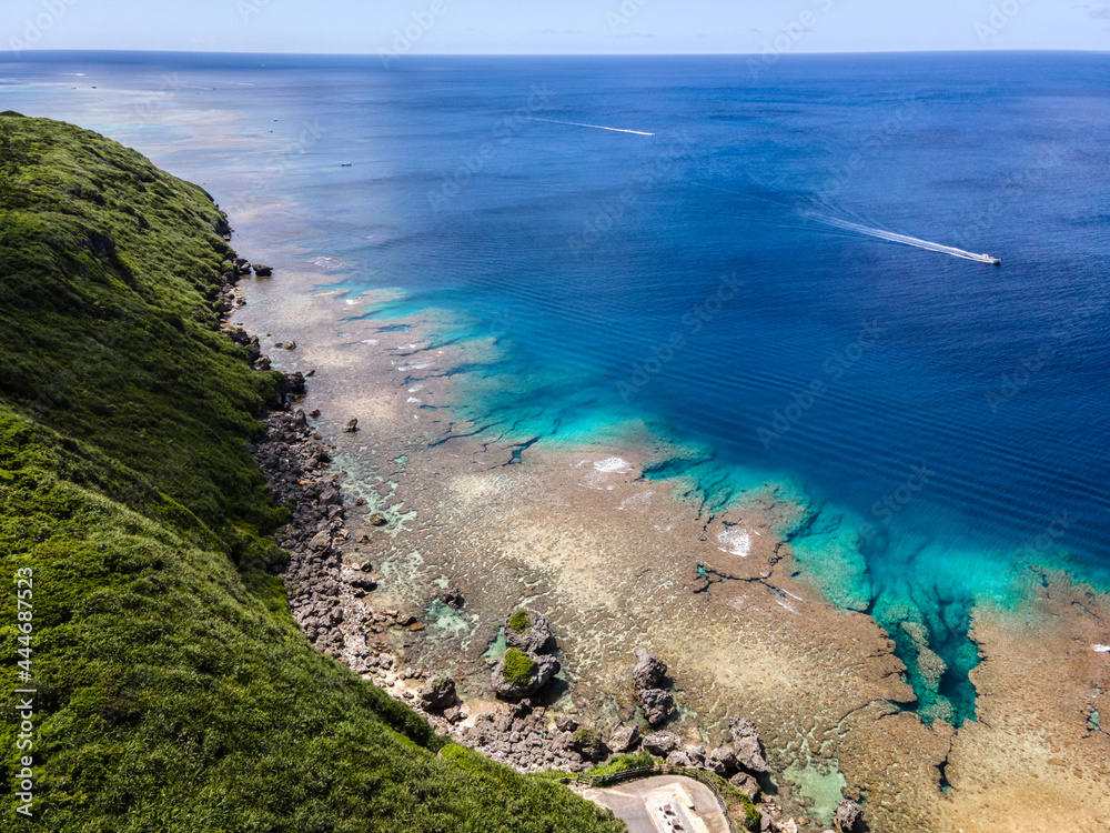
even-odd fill
[[[220,219],[115,142],[0,116],[0,829],[620,830],[558,785],[437,755],[296,629],[260,538],[284,510],[244,450],[276,377],[218,332]]]

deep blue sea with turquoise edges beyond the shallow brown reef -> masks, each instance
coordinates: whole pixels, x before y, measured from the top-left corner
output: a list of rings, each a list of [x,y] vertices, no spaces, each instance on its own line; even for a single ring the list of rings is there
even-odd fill
[[[1107,580],[1110,56],[754,74],[56,53],[0,63],[2,109],[105,132],[205,184],[251,239],[403,290],[384,314],[442,308],[463,322],[444,340],[495,337],[462,405],[491,430],[577,442],[646,420],[686,449],[650,475],[709,509],[787,484],[813,509],[790,531],[806,571],[888,625],[927,716],[972,714],[976,601],[1015,602],[1028,563]],[[236,221],[273,197],[295,222]],[[939,689],[905,620],[948,663]]]

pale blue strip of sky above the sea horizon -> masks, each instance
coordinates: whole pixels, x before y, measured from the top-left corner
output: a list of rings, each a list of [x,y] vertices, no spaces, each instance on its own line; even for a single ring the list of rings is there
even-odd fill
[[[1110,0],[2,0],[0,50],[1110,50]]]

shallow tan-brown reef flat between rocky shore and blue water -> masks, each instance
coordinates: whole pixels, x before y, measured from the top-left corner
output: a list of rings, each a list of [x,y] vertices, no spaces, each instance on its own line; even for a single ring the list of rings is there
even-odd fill
[[[646,429],[566,448],[455,422],[453,403],[467,395],[455,369],[486,360],[492,342],[442,340],[448,313],[390,317],[392,294],[349,297],[307,265],[290,283],[300,289],[254,284],[238,318],[296,342],[293,353],[274,351],[281,367],[314,371],[302,407],[319,410],[314,426],[363,503],[344,564],[353,575],[369,560],[379,576],[375,590],[344,601],[370,611],[345,616],[371,622],[352,629],[352,644],[426,676],[450,674],[462,709],[441,731],[474,743],[476,720],[515,713],[494,697],[490,672],[506,614],[524,605],[558,639],[562,671],[531,697],[553,732],[565,719],[601,734],[650,731],[630,679],[634,652],[646,648],[674,681],[678,712],[667,729],[685,743],[726,742],[737,713],[755,721],[784,819],[824,829],[847,796],[874,830],[1104,823],[1103,594],[1030,570],[1020,605],[977,605],[977,719],[958,731],[927,723],[910,710],[916,695],[890,634],[866,612],[831,604],[795,559],[783,531],[809,510],[776,484],[713,513],[685,500],[682,482],[643,476],[675,453]],[[344,433],[352,419],[357,431]],[[445,605],[445,589],[465,602]],[[375,621],[382,610],[418,628]],[[395,696],[417,696],[420,681],[365,655],[347,659]],[[531,766],[508,746],[501,754]]]

